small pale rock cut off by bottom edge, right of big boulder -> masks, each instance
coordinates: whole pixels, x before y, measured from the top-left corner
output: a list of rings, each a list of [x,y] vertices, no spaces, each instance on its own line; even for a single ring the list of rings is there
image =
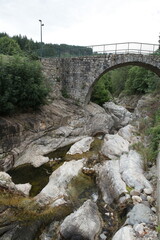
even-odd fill
[[[131,226],[120,228],[113,236],[112,240],[136,240],[133,228]]]

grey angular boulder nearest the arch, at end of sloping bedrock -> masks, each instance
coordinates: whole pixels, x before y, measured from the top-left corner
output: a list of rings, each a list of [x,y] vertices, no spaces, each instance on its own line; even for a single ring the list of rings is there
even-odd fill
[[[132,114],[123,106],[113,102],[106,102],[103,107],[107,114],[112,117],[116,129],[126,126],[132,120]]]

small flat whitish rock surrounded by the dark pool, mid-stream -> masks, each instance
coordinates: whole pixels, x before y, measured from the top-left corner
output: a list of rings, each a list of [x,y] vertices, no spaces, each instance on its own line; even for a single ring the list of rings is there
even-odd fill
[[[93,137],[85,137],[80,141],[76,142],[71,146],[67,154],[82,154],[83,152],[87,152],[90,149],[91,143],[94,141]]]

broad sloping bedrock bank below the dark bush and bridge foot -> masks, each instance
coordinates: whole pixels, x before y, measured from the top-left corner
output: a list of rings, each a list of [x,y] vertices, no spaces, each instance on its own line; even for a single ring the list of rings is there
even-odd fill
[[[0,169],[31,163],[38,167],[49,159],[47,153],[59,147],[75,143],[86,136],[108,133],[113,120],[97,104],[86,108],[55,100],[39,111],[8,117],[2,121],[3,134],[0,141]],[[14,133],[9,133],[14,128]],[[3,136],[7,138],[4,140]],[[18,136],[18,142],[14,139]]]

